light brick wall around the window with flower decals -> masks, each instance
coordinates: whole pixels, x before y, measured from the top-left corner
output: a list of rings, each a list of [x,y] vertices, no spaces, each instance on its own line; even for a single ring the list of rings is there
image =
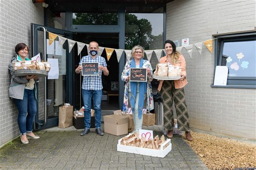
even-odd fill
[[[213,34],[254,30],[255,0],[175,0],[166,7],[166,39],[190,38],[190,44]],[[202,56],[193,47],[185,87],[190,125],[219,135],[256,139],[256,90],[213,88],[214,52],[203,45]]]

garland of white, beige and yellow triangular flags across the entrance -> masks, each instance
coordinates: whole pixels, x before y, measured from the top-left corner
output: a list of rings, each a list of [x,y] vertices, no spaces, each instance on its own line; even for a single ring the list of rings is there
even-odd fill
[[[59,39],[59,45],[58,45],[59,49],[67,40],[68,41],[68,46],[69,46],[69,52],[71,52],[71,50],[73,49],[73,47],[77,43],[77,53],[78,53],[78,55],[81,53],[81,51],[83,50],[83,48],[85,46],[87,47],[88,54],[90,53],[89,44],[85,44],[85,43],[78,42],[78,41],[73,41],[73,40],[67,39],[65,37],[58,36],[57,34],[54,34],[52,32],[48,32],[48,33],[49,33],[49,46],[58,37],[58,39]],[[216,39],[216,38],[214,38],[214,39]],[[213,52],[213,40],[214,39],[210,39],[210,40],[202,41],[202,42],[197,42],[195,44],[190,44],[188,46],[176,47],[176,51],[179,51],[181,53],[181,50],[184,47],[186,49],[186,51],[188,52],[188,54],[190,55],[190,58],[192,58],[192,51],[193,51],[193,45],[194,45],[196,47],[196,50],[199,52],[199,54],[202,55],[202,49],[203,49],[202,46],[203,46],[203,42],[204,42],[204,45],[206,46],[206,48],[212,53]],[[111,58],[111,55],[113,54],[114,51],[116,52],[118,62],[120,61],[120,58],[123,54],[123,51],[126,54],[126,60],[130,60],[131,57],[132,57],[131,50],[105,48],[105,47],[101,47],[101,46],[99,46],[98,55],[101,56],[104,49],[106,50],[107,60],[109,60]],[[145,50],[148,61],[151,60],[153,51],[155,52],[158,61],[161,58],[162,51],[164,51],[166,53],[165,49]]]

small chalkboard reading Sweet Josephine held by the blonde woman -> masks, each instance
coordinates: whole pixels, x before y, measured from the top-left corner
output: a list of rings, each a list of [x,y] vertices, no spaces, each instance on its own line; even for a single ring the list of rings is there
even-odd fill
[[[131,82],[147,82],[147,69],[145,68],[130,68]]]

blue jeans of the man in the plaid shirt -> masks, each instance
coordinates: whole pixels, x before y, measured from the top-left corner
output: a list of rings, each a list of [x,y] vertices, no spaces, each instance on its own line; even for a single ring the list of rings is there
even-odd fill
[[[84,90],[82,89],[83,102],[85,107],[85,129],[90,129],[90,109],[91,109],[91,96],[93,97],[93,107],[95,116],[95,128],[100,128],[101,124],[101,96],[102,90]]]

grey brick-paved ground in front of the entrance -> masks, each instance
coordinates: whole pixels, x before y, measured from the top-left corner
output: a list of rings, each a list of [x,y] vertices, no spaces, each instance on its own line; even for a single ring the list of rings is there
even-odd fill
[[[161,126],[143,129],[162,135]],[[158,158],[117,152],[118,139],[125,135],[99,136],[91,129],[80,136],[82,130],[72,126],[37,131],[40,138],[29,139],[28,145],[17,138],[0,149],[0,170],[208,170],[180,135],[171,139],[171,152]]]

